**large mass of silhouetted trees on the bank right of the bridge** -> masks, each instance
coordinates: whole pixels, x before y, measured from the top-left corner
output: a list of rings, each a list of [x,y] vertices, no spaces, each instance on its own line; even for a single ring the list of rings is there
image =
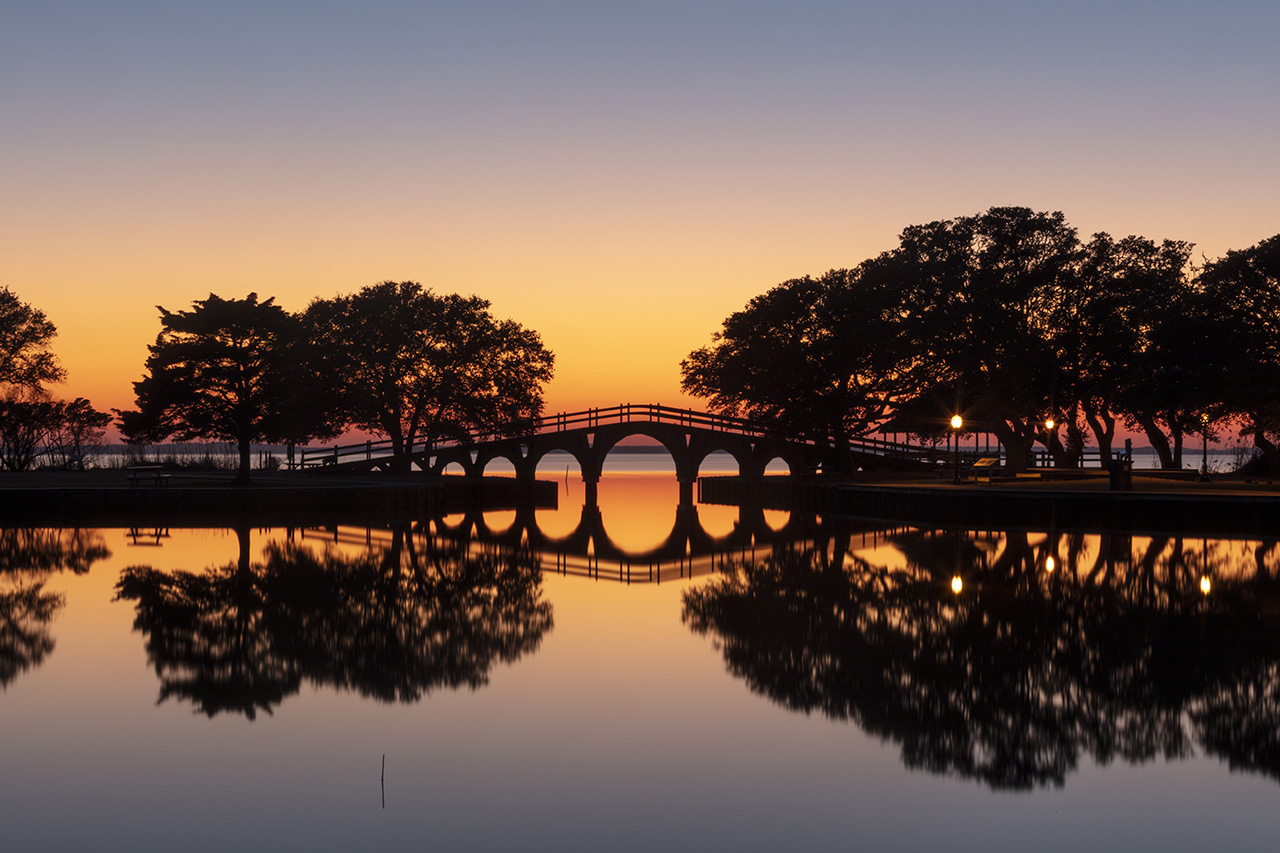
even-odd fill
[[[992,207],[911,225],[852,269],[785,282],[682,362],[712,409],[832,441],[881,426],[995,433],[1012,467],[1059,465],[1117,424],[1164,467],[1184,441],[1242,429],[1280,473],[1280,236],[1203,266],[1192,245]],[[1052,428],[1047,421],[1052,420]]]

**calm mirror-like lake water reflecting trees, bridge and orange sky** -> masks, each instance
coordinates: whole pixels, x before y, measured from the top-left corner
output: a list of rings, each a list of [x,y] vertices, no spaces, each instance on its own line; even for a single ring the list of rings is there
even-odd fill
[[[1276,542],[691,514],[667,462],[534,524],[4,530],[5,849],[1280,841]]]

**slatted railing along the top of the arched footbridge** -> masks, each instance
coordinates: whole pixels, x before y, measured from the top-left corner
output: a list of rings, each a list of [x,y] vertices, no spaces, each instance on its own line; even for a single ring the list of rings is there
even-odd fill
[[[692,409],[676,409],[660,403],[620,403],[602,409],[584,409],[580,411],[557,412],[545,415],[532,424],[521,424],[518,428],[495,429],[492,433],[471,433],[460,439],[436,442],[434,446],[426,442],[413,442],[406,447],[408,456],[443,450],[451,447],[471,447],[493,437],[518,437],[524,434],[544,435],[566,432],[571,429],[595,429],[611,424],[672,424],[676,426],[689,426],[694,429],[707,429],[712,432],[733,433],[751,438],[769,435],[769,430],[760,424],[742,418],[717,415],[713,412],[695,411]],[[527,430],[527,432],[526,432]],[[786,437],[787,441],[812,447],[829,447],[829,435],[803,435]],[[922,444],[906,444],[881,438],[852,438],[850,447],[861,453],[874,456],[896,456],[919,459],[922,461],[937,461],[951,459],[951,453],[945,448],[928,447]],[[356,444],[335,444],[333,447],[303,447],[298,456],[298,467],[317,467],[328,465],[343,465],[351,462],[376,462],[388,460],[393,455],[393,442],[390,439],[366,441]]]

